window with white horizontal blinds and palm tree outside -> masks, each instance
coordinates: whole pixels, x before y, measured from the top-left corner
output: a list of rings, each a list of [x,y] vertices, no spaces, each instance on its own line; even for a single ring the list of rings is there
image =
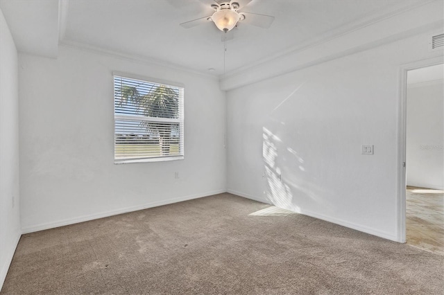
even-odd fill
[[[184,88],[114,75],[114,163],[184,158]]]

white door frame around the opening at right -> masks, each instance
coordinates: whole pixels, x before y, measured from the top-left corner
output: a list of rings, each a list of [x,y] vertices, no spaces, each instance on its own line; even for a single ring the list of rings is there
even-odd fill
[[[400,66],[400,103],[398,110],[398,242],[406,242],[406,129],[407,129],[407,72],[443,64],[444,57],[434,57],[427,60],[419,60]]]

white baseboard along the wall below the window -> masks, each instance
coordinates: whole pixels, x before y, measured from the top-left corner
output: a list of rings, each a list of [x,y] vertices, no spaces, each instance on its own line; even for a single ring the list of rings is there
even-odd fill
[[[157,206],[163,206],[163,205],[188,201],[190,199],[198,199],[200,197],[207,197],[210,195],[217,195],[217,194],[221,194],[221,193],[226,193],[226,190],[214,190],[214,191],[207,192],[207,193],[199,193],[196,195],[187,195],[184,197],[167,199],[167,200],[163,200],[163,201],[159,201],[159,202],[150,202],[147,204],[130,206],[130,207],[126,207],[126,208],[120,208],[120,209],[113,210],[113,211],[106,211],[106,212],[92,214],[92,215],[83,215],[80,217],[69,218],[66,220],[59,220],[57,222],[48,222],[48,223],[44,223],[44,224],[38,224],[35,226],[28,226],[28,227],[22,228],[22,233],[33,233],[35,231],[43,231],[45,229],[53,229],[53,228],[59,227],[59,226],[76,224],[79,222],[87,222],[89,220],[97,220],[97,219],[103,218],[103,217],[110,217],[113,215],[119,215],[119,214],[123,214],[123,213],[144,210],[144,209],[153,208],[153,207],[157,207]]]

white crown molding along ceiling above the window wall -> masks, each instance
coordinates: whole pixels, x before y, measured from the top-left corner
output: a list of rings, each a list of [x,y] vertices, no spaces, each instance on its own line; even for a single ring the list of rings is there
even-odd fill
[[[97,46],[88,45],[81,42],[75,42],[69,39],[64,39],[59,42],[59,46],[65,46],[67,48],[75,48],[81,51],[87,51],[90,53],[96,53],[99,55],[105,55],[108,57],[119,58],[121,60],[128,60],[130,62],[143,62],[144,64],[149,64],[151,66],[160,66],[163,68],[171,69],[173,71],[181,71],[183,73],[191,74],[198,76],[200,78],[206,78],[214,81],[219,81],[219,77],[217,75],[212,75],[209,73],[203,73],[200,71],[194,71],[191,69],[187,69],[184,66],[178,66],[177,64],[173,64],[171,62],[165,62],[164,60],[157,60],[155,58],[145,57],[142,55],[133,55],[128,53],[122,53],[119,51],[112,51],[110,49],[105,49]]]

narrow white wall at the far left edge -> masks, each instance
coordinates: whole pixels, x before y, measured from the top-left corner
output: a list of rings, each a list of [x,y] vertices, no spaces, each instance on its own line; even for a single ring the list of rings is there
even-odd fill
[[[0,289],[21,235],[17,49],[0,10]]]

